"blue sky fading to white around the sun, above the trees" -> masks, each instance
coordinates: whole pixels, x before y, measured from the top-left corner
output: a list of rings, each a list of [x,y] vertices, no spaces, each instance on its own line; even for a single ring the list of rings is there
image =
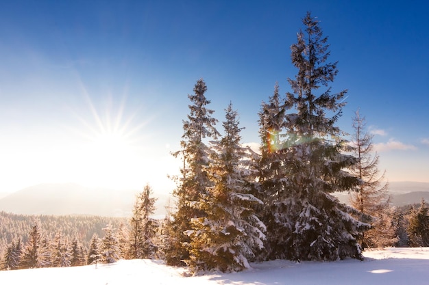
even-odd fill
[[[2,1],[0,191],[43,182],[169,192],[187,94],[204,78],[221,122],[232,101],[243,142],[307,11],[321,21],[339,126],[360,108],[391,181],[429,182],[426,1]],[[221,131],[221,123],[218,128]]]

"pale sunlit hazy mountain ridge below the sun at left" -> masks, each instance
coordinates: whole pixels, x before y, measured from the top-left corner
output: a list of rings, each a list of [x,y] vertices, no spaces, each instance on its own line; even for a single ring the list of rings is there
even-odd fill
[[[23,215],[131,217],[138,192],[89,188],[74,183],[41,184],[1,198],[0,211]],[[160,203],[164,199],[160,199]],[[162,215],[164,207],[161,208],[156,214]]]

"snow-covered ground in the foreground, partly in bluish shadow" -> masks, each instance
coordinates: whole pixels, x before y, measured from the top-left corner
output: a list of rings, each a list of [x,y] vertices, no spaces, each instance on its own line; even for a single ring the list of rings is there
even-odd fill
[[[429,247],[365,252],[365,261],[252,263],[240,273],[185,277],[182,268],[157,260],[121,260],[95,266],[0,271],[0,284],[43,285],[282,285],[282,284],[429,284]]]

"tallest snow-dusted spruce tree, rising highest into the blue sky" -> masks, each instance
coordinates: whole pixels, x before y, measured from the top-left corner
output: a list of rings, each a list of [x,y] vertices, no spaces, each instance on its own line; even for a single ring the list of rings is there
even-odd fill
[[[291,46],[298,72],[295,79],[288,79],[293,93],[286,93],[284,104],[287,194],[275,201],[276,208],[284,209],[275,218],[290,234],[281,241],[284,247],[277,250],[292,260],[362,258],[356,238],[369,224],[356,219],[363,218],[356,209],[331,195],[355,191],[360,182],[346,171],[356,158],[343,154],[349,147],[335,126],[346,90],[331,94],[328,87],[319,92],[334,81],[336,63],[326,62],[328,38],[323,37],[319,22],[308,12],[303,23],[305,30],[297,33],[297,43]]]

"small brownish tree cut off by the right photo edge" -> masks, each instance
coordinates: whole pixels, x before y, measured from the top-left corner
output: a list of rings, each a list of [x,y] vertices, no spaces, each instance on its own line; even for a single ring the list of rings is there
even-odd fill
[[[428,247],[429,246],[429,216],[428,207],[424,199],[421,199],[421,204],[418,209],[413,208],[408,217],[408,239],[412,247]]]

